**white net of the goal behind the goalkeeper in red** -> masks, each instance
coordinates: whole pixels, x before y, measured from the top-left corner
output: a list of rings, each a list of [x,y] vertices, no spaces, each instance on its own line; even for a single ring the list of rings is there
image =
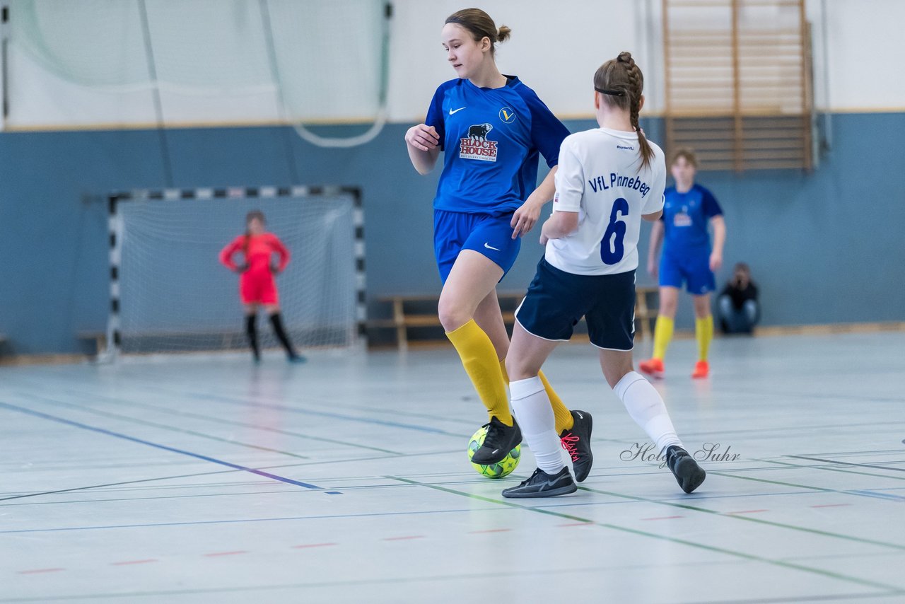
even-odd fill
[[[351,195],[119,202],[119,350],[247,349],[239,275],[220,264],[226,244],[261,210],[291,254],[277,275],[286,331],[298,349],[357,338],[355,200]],[[242,253],[234,256],[243,264]],[[277,256],[273,256],[276,264]],[[278,345],[259,313],[262,349]]]

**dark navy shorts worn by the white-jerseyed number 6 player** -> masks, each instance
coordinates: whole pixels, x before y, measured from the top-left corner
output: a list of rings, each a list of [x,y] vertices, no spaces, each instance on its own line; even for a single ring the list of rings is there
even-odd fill
[[[573,274],[545,258],[515,312],[522,329],[544,340],[568,340],[582,317],[591,343],[606,350],[634,347],[634,271]]]

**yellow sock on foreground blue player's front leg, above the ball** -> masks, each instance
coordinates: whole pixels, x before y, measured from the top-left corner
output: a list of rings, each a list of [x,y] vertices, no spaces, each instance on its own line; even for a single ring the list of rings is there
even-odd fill
[[[457,330],[447,331],[446,337],[459,353],[465,372],[472,379],[474,389],[490,417],[496,416],[503,424],[512,425],[509,397],[506,384],[500,373],[500,360],[491,339],[478,327],[478,323],[468,321]]]

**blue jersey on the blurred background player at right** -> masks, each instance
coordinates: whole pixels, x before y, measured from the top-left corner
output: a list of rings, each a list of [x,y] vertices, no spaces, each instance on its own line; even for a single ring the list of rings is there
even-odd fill
[[[723,213],[710,191],[700,185],[693,185],[687,193],[669,187],[663,200],[663,254],[710,254],[707,221]]]

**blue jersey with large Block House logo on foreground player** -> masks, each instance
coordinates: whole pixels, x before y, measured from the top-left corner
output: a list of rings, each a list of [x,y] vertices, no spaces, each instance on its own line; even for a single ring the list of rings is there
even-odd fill
[[[538,154],[553,168],[568,129],[515,76],[502,88],[443,82],[427,119],[440,135],[443,173],[433,207],[469,214],[508,214],[537,187]]]

